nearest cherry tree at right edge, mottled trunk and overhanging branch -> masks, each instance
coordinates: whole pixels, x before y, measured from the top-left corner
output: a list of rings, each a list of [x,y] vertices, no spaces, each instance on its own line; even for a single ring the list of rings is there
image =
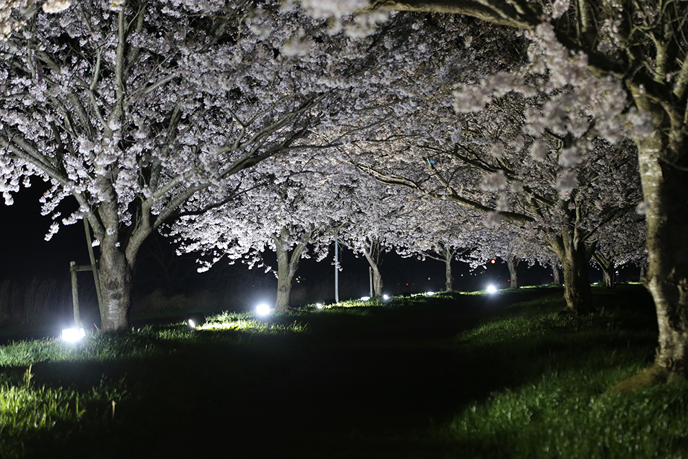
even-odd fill
[[[682,36],[688,4],[665,0],[378,0],[372,5],[466,14],[526,30],[542,51],[539,63],[548,68],[550,81],[588,91],[593,81],[623,89],[616,103],[630,104],[627,119],[636,125],[632,136],[647,219],[647,287],[660,330],[654,366],[631,383],[684,377],[688,371],[688,242],[683,236],[688,232],[688,189],[684,186],[688,59]],[[571,72],[572,65],[578,71]],[[590,107],[599,111],[598,122],[614,118],[604,104]]]

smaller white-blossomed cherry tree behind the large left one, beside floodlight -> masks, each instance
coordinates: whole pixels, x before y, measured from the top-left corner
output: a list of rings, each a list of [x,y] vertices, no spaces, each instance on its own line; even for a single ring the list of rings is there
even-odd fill
[[[182,239],[182,250],[200,255],[202,270],[222,259],[242,259],[250,268],[275,272],[279,311],[289,308],[299,261],[327,256],[338,228],[347,221],[358,180],[319,171],[319,164],[295,155],[288,162],[294,163],[282,164],[280,175],[270,162],[259,165],[255,177],[262,180],[255,186],[200,215],[183,215],[171,228],[171,234]],[[266,261],[266,250],[275,253],[277,269]]]

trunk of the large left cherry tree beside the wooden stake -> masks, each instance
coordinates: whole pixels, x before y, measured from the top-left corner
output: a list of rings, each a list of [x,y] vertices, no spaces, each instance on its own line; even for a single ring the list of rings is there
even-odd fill
[[[114,237],[100,241],[100,289],[103,292],[103,312],[100,330],[123,332],[129,330],[131,273],[133,267],[116,246]]]

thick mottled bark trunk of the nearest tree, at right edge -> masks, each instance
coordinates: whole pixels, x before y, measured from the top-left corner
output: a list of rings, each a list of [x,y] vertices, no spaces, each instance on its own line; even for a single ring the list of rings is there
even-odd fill
[[[662,115],[654,113],[655,125]],[[655,365],[685,376],[688,350],[688,155],[655,134],[636,140],[647,221],[648,266],[645,285],[654,299],[659,325]],[[678,134],[675,134],[678,135]],[[668,142],[672,144],[671,141]],[[680,145],[685,145],[680,142]],[[679,151],[680,150],[680,151]],[[681,154],[682,153],[682,154]],[[674,156],[672,158],[672,156]]]

